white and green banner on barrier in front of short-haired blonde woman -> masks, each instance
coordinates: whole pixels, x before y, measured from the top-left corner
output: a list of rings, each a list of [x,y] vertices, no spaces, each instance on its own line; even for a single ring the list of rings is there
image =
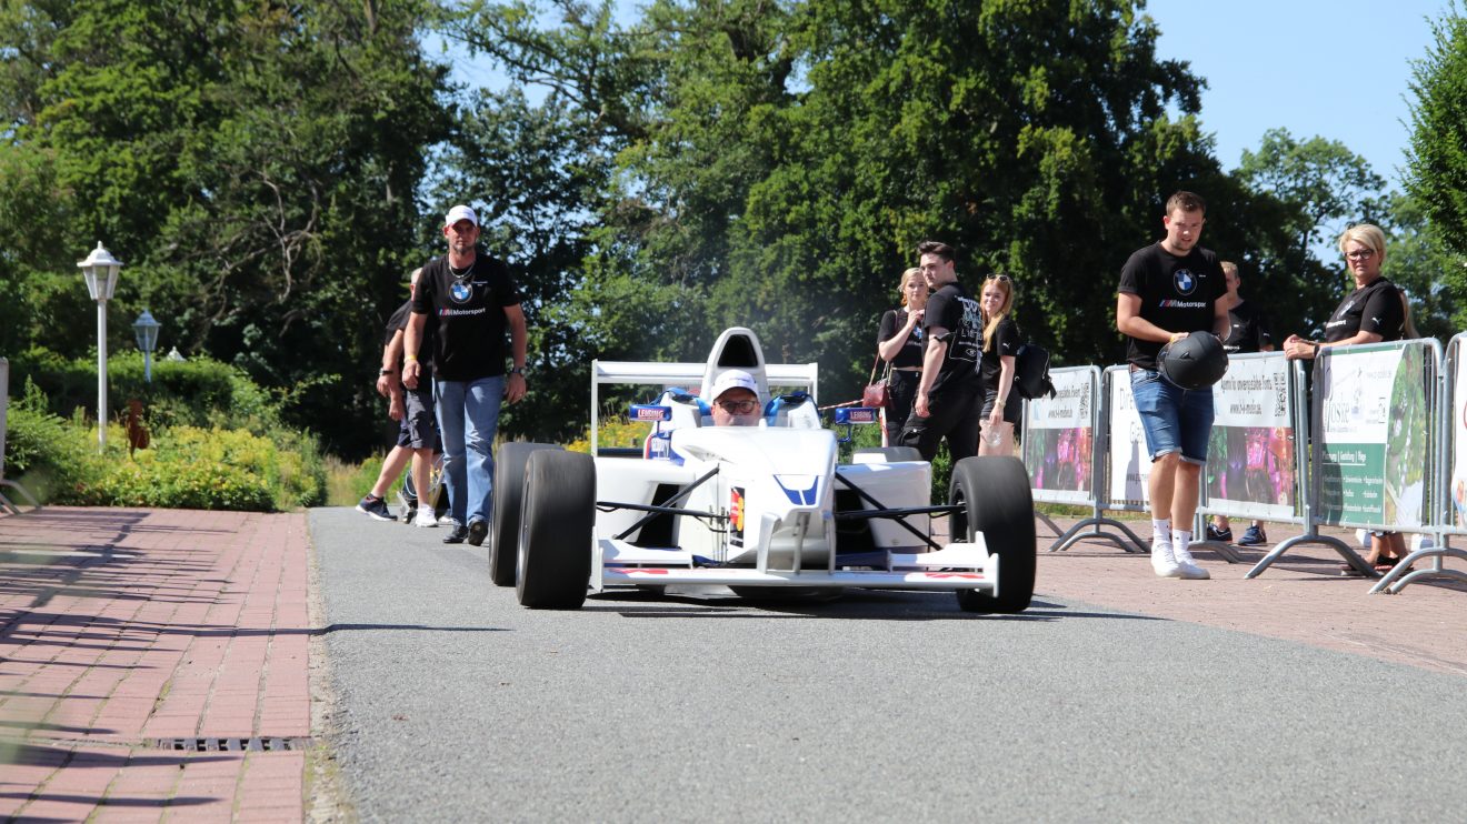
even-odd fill
[[[1319,513],[1325,523],[1416,531],[1426,518],[1426,347],[1320,364]]]

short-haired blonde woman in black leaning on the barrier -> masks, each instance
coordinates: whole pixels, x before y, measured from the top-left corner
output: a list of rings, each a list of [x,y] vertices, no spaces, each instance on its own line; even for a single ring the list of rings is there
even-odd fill
[[[1379,226],[1357,223],[1339,236],[1339,251],[1354,277],[1356,289],[1339,302],[1325,323],[1325,340],[1306,340],[1297,334],[1284,342],[1289,359],[1310,359],[1320,349],[1353,343],[1379,343],[1416,337],[1410,323],[1405,293],[1380,274],[1385,262],[1385,232]],[[1373,532],[1366,563],[1389,569],[1405,557],[1405,540],[1400,532]],[[1353,566],[1341,573],[1358,575]]]

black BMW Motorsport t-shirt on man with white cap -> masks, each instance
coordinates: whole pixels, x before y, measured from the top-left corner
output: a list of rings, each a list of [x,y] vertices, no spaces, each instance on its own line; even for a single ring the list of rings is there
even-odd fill
[[[434,325],[433,367],[439,380],[472,381],[505,374],[505,306],[519,290],[503,262],[480,252],[455,276],[447,257],[433,258],[418,276],[412,311]],[[421,355],[420,355],[421,358]]]

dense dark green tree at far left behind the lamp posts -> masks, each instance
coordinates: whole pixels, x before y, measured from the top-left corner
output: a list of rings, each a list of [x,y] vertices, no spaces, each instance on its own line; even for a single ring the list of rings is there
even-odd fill
[[[0,213],[60,211],[79,248],[23,267],[75,271],[103,239],[128,264],[117,308],[151,308],[164,345],[249,369],[343,452],[377,440],[377,330],[418,257],[424,150],[449,125],[446,69],[417,41],[427,9],[34,4],[29,29],[54,37],[32,38],[44,54],[23,59],[44,70],[4,87],[6,110],[22,179],[56,196],[7,189]],[[89,343],[78,325],[38,339],[76,355]]]

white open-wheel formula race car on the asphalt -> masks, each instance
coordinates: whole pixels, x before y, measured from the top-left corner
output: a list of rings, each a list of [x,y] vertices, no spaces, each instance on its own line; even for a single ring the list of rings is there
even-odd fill
[[[714,427],[709,390],[750,372],[770,399],[757,427]],[[816,365],[766,364],[758,337],[729,328],[707,364],[593,364],[591,455],[506,443],[496,457],[490,573],[535,608],[579,608],[612,588],[722,585],[942,589],[976,613],[1017,613],[1034,592],[1034,504],[1014,457],[954,468],[932,506],[932,466],[912,449],[857,450],[838,465],[816,409]],[[641,449],[599,450],[599,389],[657,384],[631,408],[651,422]],[[692,394],[682,386],[700,386]],[[770,394],[770,387],[783,393]],[[792,390],[792,391],[791,391]],[[842,409],[838,422],[876,422]],[[849,431],[849,430],[848,430]],[[593,457],[593,455],[596,457]],[[932,520],[948,518],[940,545]]]

